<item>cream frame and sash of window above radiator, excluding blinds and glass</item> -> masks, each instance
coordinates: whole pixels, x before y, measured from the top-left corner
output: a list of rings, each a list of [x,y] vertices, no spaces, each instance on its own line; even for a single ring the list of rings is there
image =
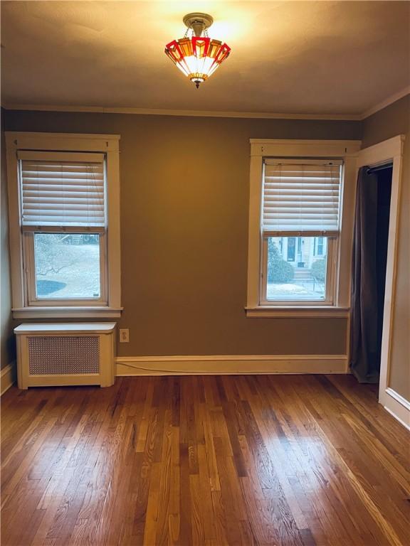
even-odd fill
[[[120,272],[120,135],[6,132],[12,311],[15,319],[118,318]],[[35,227],[22,229],[19,197],[19,151],[100,152],[105,155],[107,228],[67,228],[66,232],[100,235],[99,299],[38,299],[35,294]],[[42,228],[41,232],[62,232]]]

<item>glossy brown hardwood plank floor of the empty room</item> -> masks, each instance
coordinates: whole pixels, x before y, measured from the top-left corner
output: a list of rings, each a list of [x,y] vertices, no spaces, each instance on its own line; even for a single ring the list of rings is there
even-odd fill
[[[410,545],[409,433],[343,375],[2,397],[3,546]]]

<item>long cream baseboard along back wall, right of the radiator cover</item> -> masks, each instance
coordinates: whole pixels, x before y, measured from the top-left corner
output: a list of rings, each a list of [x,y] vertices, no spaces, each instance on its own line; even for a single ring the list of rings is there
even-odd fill
[[[346,355],[117,356],[117,374],[236,375],[346,373]]]

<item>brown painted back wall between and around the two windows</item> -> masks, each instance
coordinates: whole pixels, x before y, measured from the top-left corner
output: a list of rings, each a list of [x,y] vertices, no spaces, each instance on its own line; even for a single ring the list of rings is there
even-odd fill
[[[345,319],[245,316],[249,139],[361,123],[9,111],[6,128],[121,134],[121,355],[345,353]]]

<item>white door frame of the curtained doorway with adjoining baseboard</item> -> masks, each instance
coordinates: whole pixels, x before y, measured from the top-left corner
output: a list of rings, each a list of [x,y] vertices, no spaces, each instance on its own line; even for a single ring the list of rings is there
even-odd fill
[[[382,354],[380,361],[379,403],[397,420],[410,429],[410,402],[394,391],[390,385],[391,341],[393,333],[394,305],[397,274],[397,248],[399,240],[399,205],[403,163],[404,135],[374,144],[359,151],[357,170],[362,166],[393,164],[389,237],[387,242],[386,285],[384,291]],[[350,360],[350,358],[349,358]]]

